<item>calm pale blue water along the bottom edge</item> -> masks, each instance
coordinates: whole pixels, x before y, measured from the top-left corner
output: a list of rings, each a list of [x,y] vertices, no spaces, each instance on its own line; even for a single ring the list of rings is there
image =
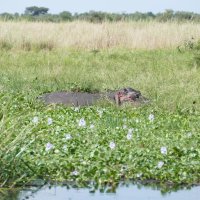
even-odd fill
[[[0,193],[1,195],[1,193]],[[200,186],[191,189],[162,193],[159,189],[138,185],[121,185],[116,193],[91,193],[89,189],[75,189],[64,186],[44,186],[40,189],[28,189],[7,193],[0,200],[199,200]]]

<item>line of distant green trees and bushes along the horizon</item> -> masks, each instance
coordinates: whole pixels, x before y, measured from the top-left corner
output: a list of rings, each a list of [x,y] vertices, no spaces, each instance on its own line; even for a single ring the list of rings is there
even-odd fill
[[[157,20],[166,21],[192,21],[200,22],[200,14],[185,11],[165,10],[162,13],[154,14],[152,12],[135,12],[135,13],[108,13],[100,11],[89,11],[85,13],[71,14],[69,11],[63,11],[59,14],[48,13],[49,9],[45,7],[31,6],[25,9],[23,14],[19,13],[1,13],[0,20],[27,20],[27,21],[47,21],[61,22],[73,20],[85,20],[93,23],[102,23],[104,21],[149,21]]]

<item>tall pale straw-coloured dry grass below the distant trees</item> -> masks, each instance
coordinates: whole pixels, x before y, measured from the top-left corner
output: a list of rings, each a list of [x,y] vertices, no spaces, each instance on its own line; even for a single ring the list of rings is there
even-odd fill
[[[113,47],[173,48],[191,37],[200,38],[200,24],[159,22],[43,23],[0,22],[0,47],[30,50],[106,49]],[[2,45],[3,44],[3,45]]]

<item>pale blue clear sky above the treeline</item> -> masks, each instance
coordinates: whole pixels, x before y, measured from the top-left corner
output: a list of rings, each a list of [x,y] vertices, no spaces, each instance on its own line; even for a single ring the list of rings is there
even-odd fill
[[[200,13],[200,0],[0,0],[0,13],[24,13],[26,7],[42,6],[49,8],[49,13],[70,11],[82,13],[90,10],[133,13],[192,11]]]

